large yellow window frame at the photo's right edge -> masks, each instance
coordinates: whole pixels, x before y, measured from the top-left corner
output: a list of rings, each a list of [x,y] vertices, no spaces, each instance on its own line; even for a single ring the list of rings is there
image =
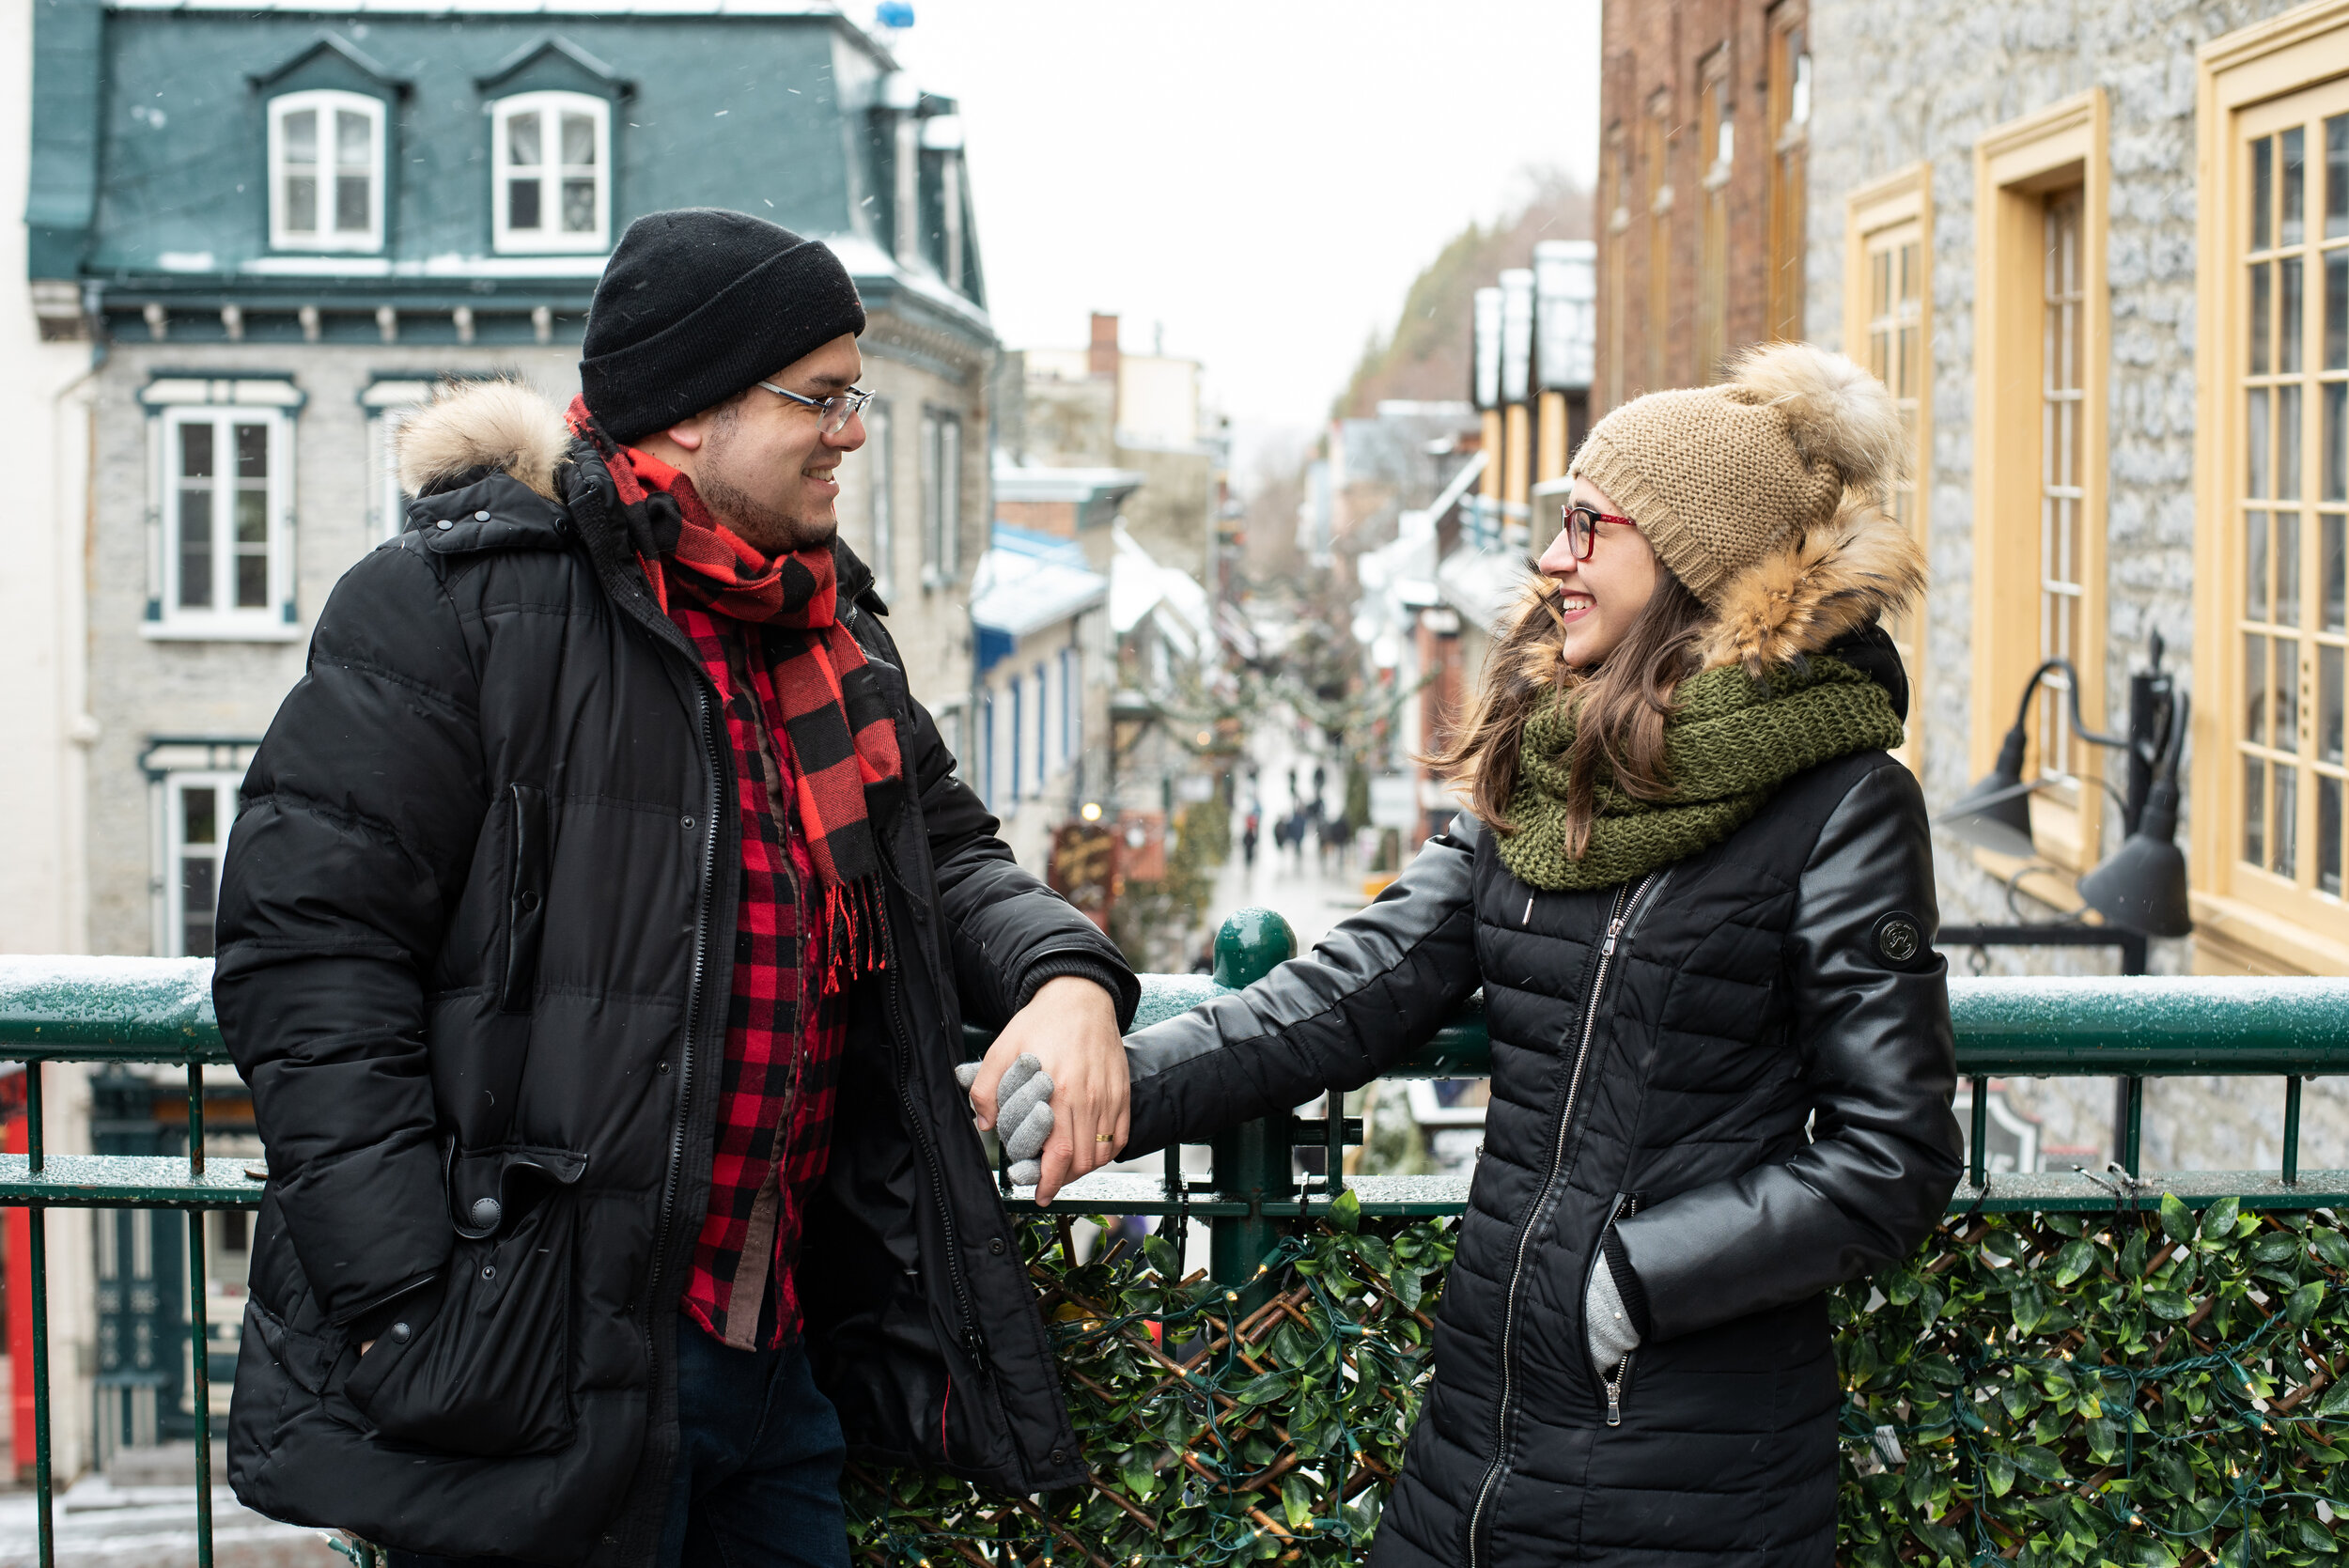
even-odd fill
[[[2326,263],[2328,254],[2349,249],[2344,239],[2326,244],[2326,160],[2323,122],[2349,115],[2349,80],[2342,75],[2344,49],[2349,49],[2349,0],[2321,0],[2304,5],[2267,23],[2241,28],[2203,45],[2199,54],[2199,190],[2196,190],[2196,317],[2201,322],[2201,357],[2196,364],[2196,423],[2194,423],[2194,500],[2199,528],[2194,530],[2194,685],[2201,702],[2194,711],[2189,782],[2192,852],[2187,857],[2194,890],[2194,965],[2206,974],[2349,974],[2349,904],[2337,892],[2321,887],[2318,866],[2318,782],[2340,779],[2340,763],[2326,761],[2318,735],[2321,714],[2316,704],[2318,648],[2342,648],[2344,631],[2326,631],[2321,552],[2323,516],[2349,519],[2349,505],[2328,502],[2323,488],[2323,385],[2340,383],[2340,373],[2326,373],[2323,364],[2323,317],[2326,317]],[[2253,209],[2253,146],[2281,136],[2290,127],[2304,127],[2309,141],[2304,200],[2307,230],[2293,242],[2281,232],[2269,232],[2264,246],[2255,246],[2250,232]],[[2269,143],[2276,148],[2276,143]],[[2271,157],[2276,153],[2271,150]],[[2281,171],[2276,171],[2281,174]],[[2271,214],[2274,216],[2274,214]],[[2271,303],[2269,338],[2271,359],[2255,369],[2250,359],[2250,305],[2253,265],[2267,261],[2281,268],[2307,268],[2307,289],[2300,305],[2300,364],[2283,364],[2283,303]],[[2271,289],[2281,296],[2281,275],[2271,275]],[[2257,387],[2300,385],[2297,413],[2297,495],[2283,498],[2281,472],[2269,474],[2262,498],[2253,498],[2253,474],[2248,455],[2248,397]],[[2281,394],[2269,408],[2281,406]],[[2274,418],[2274,415],[2271,415]],[[2274,432],[2281,437],[2281,427]],[[2271,460],[2286,462],[2286,448],[2271,444]],[[2260,505],[2264,500],[2264,505]],[[2250,514],[2274,516],[2290,512],[2297,516],[2297,549],[2293,566],[2297,575],[2300,615],[2290,627],[2271,617],[2274,603],[2260,608],[2250,599],[2248,545]],[[2344,521],[2342,526],[2349,526]],[[2281,530],[2269,523],[2260,530],[2271,552],[2267,587],[2281,594],[2286,566],[2276,545]],[[2255,615],[2257,610],[2257,615]],[[2248,620],[2246,620],[2248,617]],[[2253,624],[2257,622],[2257,624]],[[2246,631],[2246,627],[2250,627]],[[2290,641],[2297,681],[2269,674],[2262,718],[2274,721],[2269,707],[2283,697],[2293,709],[2293,742],[2276,749],[2279,732],[2264,728],[2262,739],[2248,735],[2250,695],[2246,688],[2248,636],[2283,631]],[[2274,641],[2267,643],[2267,650]],[[2274,667],[2269,667],[2274,671]],[[2295,838],[2293,871],[2281,876],[2274,854],[2267,864],[2248,864],[2246,810],[2248,779],[2246,761],[2264,756],[2269,763],[2286,763],[2295,772],[2293,822]],[[2337,753],[2335,753],[2337,756]],[[2271,779],[2269,779],[2271,784]],[[2274,803],[2274,789],[2262,791],[2262,805]],[[2271,812],[2269,812],[2271,815]],[[2276,833],[2281,822],[2264,822],[2267,833]],[[2349,829],[2344,829],[2349,831]]]

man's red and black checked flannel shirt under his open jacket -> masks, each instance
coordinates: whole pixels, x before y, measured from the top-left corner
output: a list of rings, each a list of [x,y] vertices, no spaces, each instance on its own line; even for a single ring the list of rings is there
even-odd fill
[[[846,1028],[841,998],[827,998],[820,984],[822,920],[806,913],[815,861],[792,810],[792,753],[775,735],[780,707],[754,643],[761,629],[677,592],[669,620],[719,688],[742,810],[742,908],[726,1002],[716,1157],[684,1307],[719,1340],[752,1350],[773,1289],[773,1347],[799,1333],[792,1270],[806,1199],[832,1157],[832,1096]]]

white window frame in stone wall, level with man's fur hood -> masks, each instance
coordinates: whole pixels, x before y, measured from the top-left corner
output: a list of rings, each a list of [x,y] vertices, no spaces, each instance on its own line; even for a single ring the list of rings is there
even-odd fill
[[[211,425],[214,427],[214,509],[211,509],[211,559],[214,559],[214,596],[209,606],[181,606],[179,603],[179,507],[181,507],[181,474],[179,474],[179,432],[188,425]],[[263,552],[268,559],[268,573],[263,584],[263,601],[258,606],[235,606],[221,603],[221,599],[235,596],[235,507],[218,505],[223,495],[223,484],[230,486],[226,495],[233,495],[235,474],[223,472],[235,467],[235,425],[265,425],[268,427],[268,477],[265,477],[265,509],[268,509],[268,538],[263,540]],[[251,641],[289,641],[301,636],[301,629],[289,620],[294,606],[294,420],[282,406],[272,404],[233,404],[233,401],[204,401],[204,404],[164,404],[155,411],[155,467],[153,467],[153,495],[157,519],[157,559],[155,559],[155,582],[157,582],[157,608],[155,617],[148,622],[150,636],[230,636]]]

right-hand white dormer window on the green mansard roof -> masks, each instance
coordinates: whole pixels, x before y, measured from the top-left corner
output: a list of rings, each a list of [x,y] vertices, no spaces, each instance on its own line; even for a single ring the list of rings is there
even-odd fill
[[[611,249],[611,103],[524,92],[491,106],[496,249]]]

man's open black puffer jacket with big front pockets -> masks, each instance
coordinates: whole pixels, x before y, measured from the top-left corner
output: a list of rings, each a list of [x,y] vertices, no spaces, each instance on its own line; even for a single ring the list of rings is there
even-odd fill
[[[559,427],[540,446],[561,453]],[[564,500],[484,469],[343,577],[244,779],[214,998],[270,1183],[230,1481],[413,1552],[634,1566],[677,1448],[740,826],[714,697],[620,545],[608,474],[526,477]],[[850,1002],[808,1340],[853,1453],[1069,1486],[1085,1472],[954,1063],[965,1016],[1003,1023],[1052,974],[1111,984],[1123,1019],[1139,988],[1012,864],[867,587],[843,552],[907,786],[874,796],[890,948]]]

